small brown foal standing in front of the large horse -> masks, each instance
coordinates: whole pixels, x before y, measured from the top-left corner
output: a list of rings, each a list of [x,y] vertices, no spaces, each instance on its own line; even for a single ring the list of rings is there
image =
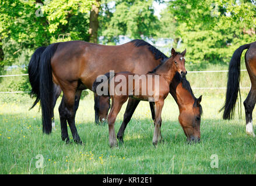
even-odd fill
[[[161,63],[153,71],[150,71],[148,74],[142,75],[140,77],[138,77],[138,74],[134,74],[129,71],[115,73],[113,78],[110,77],[110,73],[105,74],[105,76],[108,78],[108,94],[110,94],[112,100],[111,110],[108,114],[108,132],[109,143],[111,147],[117,145],[117,139],[114,130],[115,119],[120,112],[122,105],[127,101],[129,97],[142,101],[155,102],[155,131],[153,135],[153,145],[156,145],[157,142],[160,141],[160,126],[162,123],[161,112],[164,105],[164,99],[170,92],[171,80],[173,80],[173,77],[177,72],[180,73],[182,77],[187,74],[184,66],[185,52],[186,50],[182,53],[179,53],[174,49],[171,49],[171,57],[167,59],[166,62]],[[131,77],[132,83],[128,83],[128,81],[131,80]],[[141,77],[145,78],[146,84],[143,84],[140,81]],[[118,83],[120,80],[122,80],[121,83]],[[139,86],[136,87],[136,85],[138,85],[136,84],[138,83],[136,82],[137,80],[139,80]],[[97,90],[97,86],[99,84],[99,81],[94,81],[93,91]],[[106,81],[103,81],[102,84],[106,84]],[[152,88],[150,94],[149,87]],[[118,91],[121,91],[122,94],[120,94],[120,92],[118,93]]]

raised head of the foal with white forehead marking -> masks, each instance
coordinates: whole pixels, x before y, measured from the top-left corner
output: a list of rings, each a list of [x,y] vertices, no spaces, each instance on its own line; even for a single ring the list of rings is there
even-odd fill
[[[185,77],[187,70],[185,69],[185,53],[186,49],[183,52],[176,52],[174,48],[171,49],[171,58],[173,60],[173,69],[177,70],[181,74],[181,77]]]

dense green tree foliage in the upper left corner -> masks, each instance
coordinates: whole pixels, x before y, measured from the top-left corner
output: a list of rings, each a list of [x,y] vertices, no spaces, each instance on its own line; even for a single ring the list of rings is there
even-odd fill
[[[68,40],[89,41],[93,0],[0,1],[1,66],[28,63],[37,47]],[[3,54],[4,53],[4,58]]]

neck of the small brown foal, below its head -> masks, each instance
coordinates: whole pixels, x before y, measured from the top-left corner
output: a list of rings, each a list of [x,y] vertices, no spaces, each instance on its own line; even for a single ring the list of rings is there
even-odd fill
[[[163,63],[158,69],[156,69],[155,74],[164,77],[164,80],[170,85],[171,80],[173,80],[174,75],[177,71],[173,69],[173,58],[168,59],[166,62]]]

